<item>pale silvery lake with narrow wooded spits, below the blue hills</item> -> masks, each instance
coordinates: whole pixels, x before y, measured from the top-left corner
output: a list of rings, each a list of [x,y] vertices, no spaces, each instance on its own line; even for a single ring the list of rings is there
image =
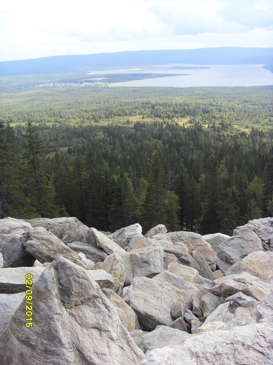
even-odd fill
[[[171,67],[209,67],[204,69],[175,69]],[[189,74],[186,76],[170,76],[147,78],[144,80],[115,82],[109,86],[162,86],[162,87],[192,87],[192,86],[260,86],[273,85],[273,73],[262,68],[262,65],[189,65],[170,64],[135,68],[131,70],[100,70],[101,73],[172,73]]]

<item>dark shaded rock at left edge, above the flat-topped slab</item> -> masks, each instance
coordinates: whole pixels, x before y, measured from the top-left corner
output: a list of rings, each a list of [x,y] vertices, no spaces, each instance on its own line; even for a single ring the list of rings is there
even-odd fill
[[[21,234],[23,234],[23,232]],[[17,268],[20,266],[33,265],[35,257],[25,251],[19,238],[19,234],[16,236],[0,234],[0,252],[3,256],[3,268]]]

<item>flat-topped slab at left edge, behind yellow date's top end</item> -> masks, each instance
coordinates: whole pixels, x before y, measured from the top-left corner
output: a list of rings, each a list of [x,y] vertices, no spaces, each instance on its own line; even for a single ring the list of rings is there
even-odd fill
[[[32,274],[32,281],[35,283],[43,270],[43,267],[0,269],[0,293],[12,294],[25,292],[26,274]]]

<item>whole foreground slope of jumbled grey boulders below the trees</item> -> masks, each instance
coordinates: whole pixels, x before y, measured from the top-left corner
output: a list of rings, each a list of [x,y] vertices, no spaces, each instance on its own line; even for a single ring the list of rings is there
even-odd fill
[[[232,237],[1,219],[0,364],[273,364],[272,260],[273,218]]]

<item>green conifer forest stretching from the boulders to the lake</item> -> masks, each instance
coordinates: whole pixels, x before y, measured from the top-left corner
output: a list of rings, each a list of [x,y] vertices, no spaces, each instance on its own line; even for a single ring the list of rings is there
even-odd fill
[[[5,87],[0,218],[232,234],[273,214],[272,87]]]

